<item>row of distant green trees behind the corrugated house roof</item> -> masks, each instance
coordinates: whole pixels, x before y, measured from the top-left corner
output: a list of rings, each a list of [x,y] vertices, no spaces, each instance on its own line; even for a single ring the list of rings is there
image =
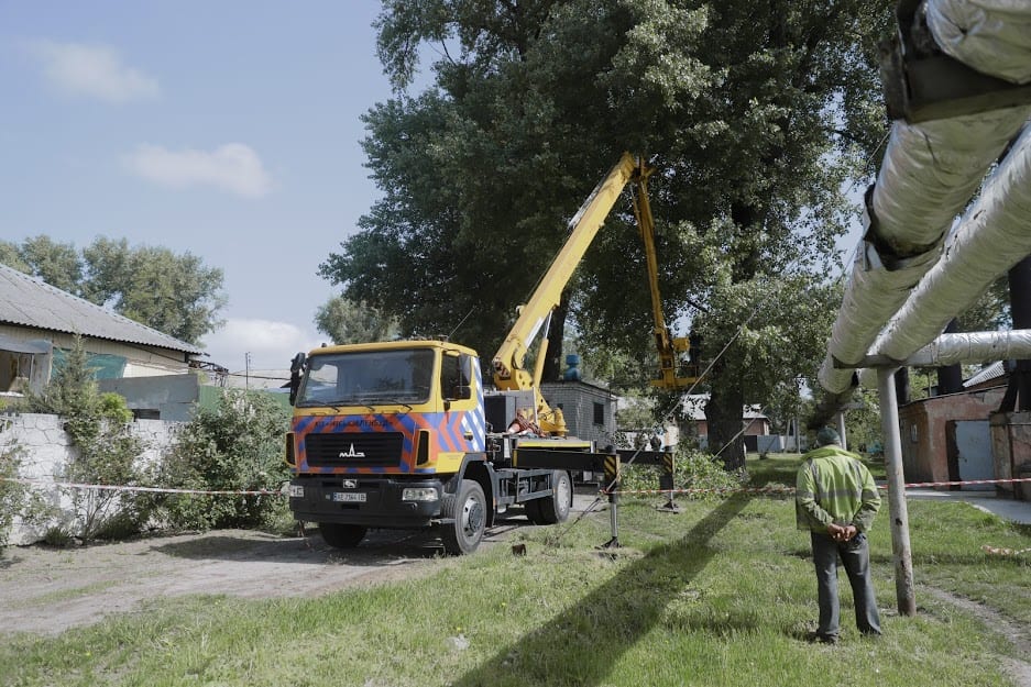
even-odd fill
[[[222,270],[164,247],[98,237],[81,251],[46,236],[0,242],[0,263],[189,343],[213,331],[226,304]]]

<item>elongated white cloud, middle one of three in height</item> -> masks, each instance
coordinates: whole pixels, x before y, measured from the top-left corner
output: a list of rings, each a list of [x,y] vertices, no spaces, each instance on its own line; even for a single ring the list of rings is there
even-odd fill
[[[257,153],[242,143],[227,143],[212,152],[169,151],[141,144],[122,158],[132,173],[169,188],[213,186],[257,198],[272,188]]]

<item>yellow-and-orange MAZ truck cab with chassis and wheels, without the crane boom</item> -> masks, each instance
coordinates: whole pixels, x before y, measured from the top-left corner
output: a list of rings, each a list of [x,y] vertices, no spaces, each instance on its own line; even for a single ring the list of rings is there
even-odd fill
[[[480,361],[465,346],[398,341],[326,346],[294,361],[286,437],[290,509],[332,546],[370,528],[440,525],[445,547],[469,553],[507,506],[563,520],[562,470],[515,469],[519,439],[491,432]],[[487,445],[490,444],[490,446]]]

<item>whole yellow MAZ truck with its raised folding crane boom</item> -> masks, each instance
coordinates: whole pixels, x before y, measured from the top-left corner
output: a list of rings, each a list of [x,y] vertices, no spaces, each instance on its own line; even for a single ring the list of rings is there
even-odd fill
[[[292,364],[294,414],[286,436],[290,509],[317,522],[331,546],[358,545],[370,528],[437,527],[449,553],[471,553],[512,506],[537,524],[564,521],[570,469],[599,465],[614,451],[568,436],[560,409],[540,392],[547,328],[594,235],[629,182],[638,222],[651,217],[646,165],[624,153],[570,221],[569,239],[492,358],[484,388],[475,351],[449,341],[323,346]],[[647,240],[646,240],[646,245]],[[654,239],[646,248],[652,303],[660,314]],[[659,303],[656,306],[656,303]],[[661,330],[661,336],[659,335]],[[533,372],[525,361],[540,335]],[[663,379],[678,340],[656,322]],[[672,361],[672,357],[670,357]],[[513,415],[534,428],[508,431]],[[525,415],[529,417],[525,417]]]

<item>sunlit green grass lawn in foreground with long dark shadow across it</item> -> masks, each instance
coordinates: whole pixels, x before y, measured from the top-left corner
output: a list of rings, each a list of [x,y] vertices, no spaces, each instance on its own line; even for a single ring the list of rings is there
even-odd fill
[[[793,484],[797,465],[749,459],[753,484]],[[526,555],[496,545],[418,580],[314,599],[155,599],[57,638],[7,635],[0,685],[1018,684],[1003,666],[1027,660],[1031,556],[981,545],[1031,547],[1028,528],[911,502],[919,612],[901,618],[885,505],[871,533],[885,636],[856,632],[843,577],[842,643],[823,646],[800,639],[814,629],[815,578],[792,500],[681,499],[680,514],[661,502],[621,506],[618,550],[597,549],[610,536],[597,512],[522,530]]]

